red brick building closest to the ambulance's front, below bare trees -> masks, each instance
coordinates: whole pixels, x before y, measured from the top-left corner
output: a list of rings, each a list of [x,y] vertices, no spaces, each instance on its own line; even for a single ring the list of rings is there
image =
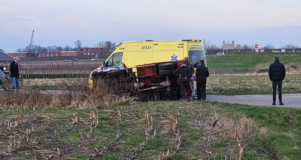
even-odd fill
[[[88,48],[77,48],[76,55],[103,55],[110,54],[112,52],[109,51],[107,47],[88,47]]]

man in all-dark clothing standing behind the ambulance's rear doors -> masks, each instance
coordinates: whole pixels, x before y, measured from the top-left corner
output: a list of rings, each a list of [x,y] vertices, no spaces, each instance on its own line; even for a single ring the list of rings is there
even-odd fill
[[[195,70],[197,76],[197,100],[206,100],[206,84],[209,77],[209,70],[204,65],[204,60],[200,60],[200,65]]]

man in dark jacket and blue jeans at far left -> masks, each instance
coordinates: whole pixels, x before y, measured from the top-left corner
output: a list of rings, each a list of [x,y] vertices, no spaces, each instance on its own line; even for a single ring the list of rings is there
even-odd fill
[[[14,58],[14,61],[11,62],[11,64],[9,65],[9,70],[11,71],[11,79],[12,79],[12,83],[11,83],[11,91],[14,91],[14,87],[16,85],[16,89],[17,91],[19,91],[20,88],[20,83],[19,83],[19,78],[21,78],[20,74],[19,74],[19,64],[18,64],[18,57]]]

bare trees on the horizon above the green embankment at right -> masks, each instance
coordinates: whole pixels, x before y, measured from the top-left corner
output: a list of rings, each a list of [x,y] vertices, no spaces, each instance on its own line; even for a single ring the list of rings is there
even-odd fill
[[[232,43],[230,42],[230,40],[227,40],[226,43]],[[223,45],[217,46],[216,44],[213,44],[210,42],[210,40],[206,40],[203,39],[203,44],[205,49],[208,50],[217,50],[217,49],[223,49]],[[243,44],[240,45],[240,49],[253,49],[254,48],[254,44],[251,45],[247,45],[247,44]],[[276,49],[274,45],[267,43],[265,46],[261,47],[262,49]],[[284,46],[281,46],[282,49],[295,49],[295,48],[300,48],[299,45],[294,45],[294,44],[286,44]],[[237,48],[237,44],[234,43],[234,49],[238,49]]]

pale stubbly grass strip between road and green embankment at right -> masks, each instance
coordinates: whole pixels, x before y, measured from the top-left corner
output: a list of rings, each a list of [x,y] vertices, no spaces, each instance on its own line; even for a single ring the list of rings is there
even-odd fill
[[[268,74],[213,75],[208,78],[208,94],[272,94]],[[301,93],[300,74],[287,74],[282,93]]]

